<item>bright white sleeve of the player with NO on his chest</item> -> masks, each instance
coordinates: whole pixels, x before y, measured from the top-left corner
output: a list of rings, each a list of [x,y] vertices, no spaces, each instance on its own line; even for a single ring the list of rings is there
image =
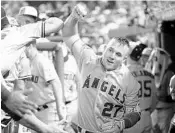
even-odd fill
[[[47,57],[43,57],[42,61],[39,63],[41,75],[46,82],[52,81],[58,77],[52,62]]]

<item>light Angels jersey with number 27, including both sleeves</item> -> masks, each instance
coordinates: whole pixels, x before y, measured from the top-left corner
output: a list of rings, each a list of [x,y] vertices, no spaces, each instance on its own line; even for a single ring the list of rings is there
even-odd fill
[[[102,132],[102,124],[122,119],[138,105],[139,83],[122,65],[115,71],[105,71],[101,58],[85,46],[78,36],[65,43],[79,63],[81,88],[78,91],[78,111],[73,122],[91,132]]]

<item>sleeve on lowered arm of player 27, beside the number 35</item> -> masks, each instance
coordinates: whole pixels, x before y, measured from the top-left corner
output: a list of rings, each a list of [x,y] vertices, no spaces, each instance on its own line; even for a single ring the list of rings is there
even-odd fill
[[[130,72],[128,72],[128,83],[127,83],[127,93],[126,93],[126,112],[140,112],[139,107],[139,98],[138,98],[138,91],[140,89],[140,84],[138,81],[132,76]]]

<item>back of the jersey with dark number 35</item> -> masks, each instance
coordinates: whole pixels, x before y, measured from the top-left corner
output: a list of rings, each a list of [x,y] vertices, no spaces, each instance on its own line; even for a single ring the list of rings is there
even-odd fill
[[[154,76],[148,71],[144,70],[142,66],[132,65],[128,67],[132,75],[140,83],[140,90],[138,93],[140,99],[141,110],[152,110],[155,108],[155,81]]]

